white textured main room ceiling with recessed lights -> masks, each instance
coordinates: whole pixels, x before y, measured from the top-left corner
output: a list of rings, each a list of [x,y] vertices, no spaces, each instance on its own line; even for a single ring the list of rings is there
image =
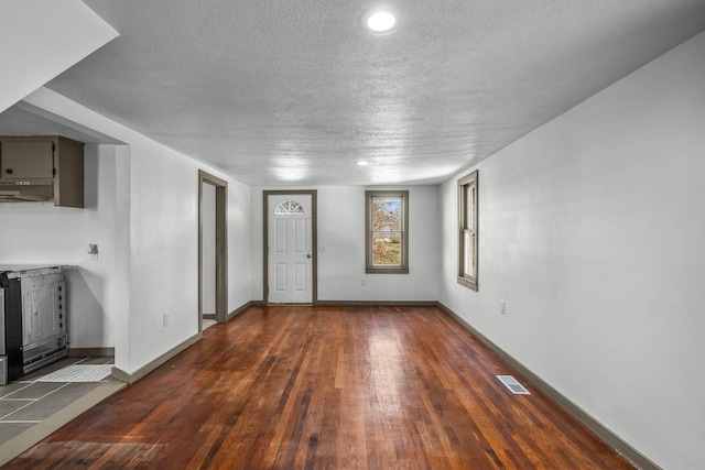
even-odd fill
[[[705,29],[705,0],[86,0],[47,87],[249,185],[437,183]],[[367,160],[370,165],[355,164]]]

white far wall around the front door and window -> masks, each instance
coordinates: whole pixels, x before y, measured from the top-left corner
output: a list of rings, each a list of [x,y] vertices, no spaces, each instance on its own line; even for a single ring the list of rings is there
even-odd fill
[[[365,274],[365,190],[318,186],[318,300],[436,300],[438,298],[438,187],[409,186],[409,274]],[[251,189],[252,299],[262,296],[262,192]],[[290,188],[291,189],[291,188]],[[366,278],[366,286],[361,280]]]

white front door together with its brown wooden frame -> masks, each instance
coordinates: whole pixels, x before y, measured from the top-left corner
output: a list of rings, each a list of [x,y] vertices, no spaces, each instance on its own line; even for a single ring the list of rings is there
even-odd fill
[[[316,190],[263,192],[263,300],[316,304]]]

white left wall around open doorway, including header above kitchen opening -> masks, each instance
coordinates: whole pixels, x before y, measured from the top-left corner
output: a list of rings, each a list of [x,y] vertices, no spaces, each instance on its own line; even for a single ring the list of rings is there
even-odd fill
[[[117,269],[100,277],[120,308],[115,319],[116,367],[133,373],[198,332],[198,170],[228,182],[229,308],[249,302],[246,185],[46,88],[25,101],[127,143],[118,147],[115,172]],[[45,233],[40,240],[46,243],[51,237]],[[101,250],[104,255],[111,253]],[[170,316],[166,327],[164,314]]]

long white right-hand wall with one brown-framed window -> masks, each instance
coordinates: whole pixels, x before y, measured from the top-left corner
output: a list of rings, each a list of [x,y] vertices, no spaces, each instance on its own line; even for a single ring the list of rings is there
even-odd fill
[[[478,293],[454,276],[467,172],[441,190],[441,300],[668,469],[705,461],[703,51],[705,33],[477,165]]]

